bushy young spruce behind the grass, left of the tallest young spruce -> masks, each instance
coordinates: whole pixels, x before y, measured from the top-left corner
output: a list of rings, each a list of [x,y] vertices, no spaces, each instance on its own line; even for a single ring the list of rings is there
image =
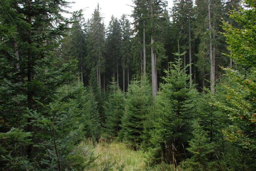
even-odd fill
[[[124,139],[133,149],[140,149],[144,123],[151,105],[152,96],[148,80],[145,77],[132,80],[126,94],[119,139]]]

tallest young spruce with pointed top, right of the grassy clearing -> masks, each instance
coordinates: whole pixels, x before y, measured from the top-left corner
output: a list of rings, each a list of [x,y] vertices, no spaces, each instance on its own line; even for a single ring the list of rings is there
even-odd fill
[[[165,70],[165,82],[160,84],[156,99],[156,123],[151,132],[153,148],[150,153],[157,162],[176,165],[185,159],[184,149],[192,136],[196,92],[187,82],[190,76],[184,74],[182,54],[175,54],[179,58]]]

